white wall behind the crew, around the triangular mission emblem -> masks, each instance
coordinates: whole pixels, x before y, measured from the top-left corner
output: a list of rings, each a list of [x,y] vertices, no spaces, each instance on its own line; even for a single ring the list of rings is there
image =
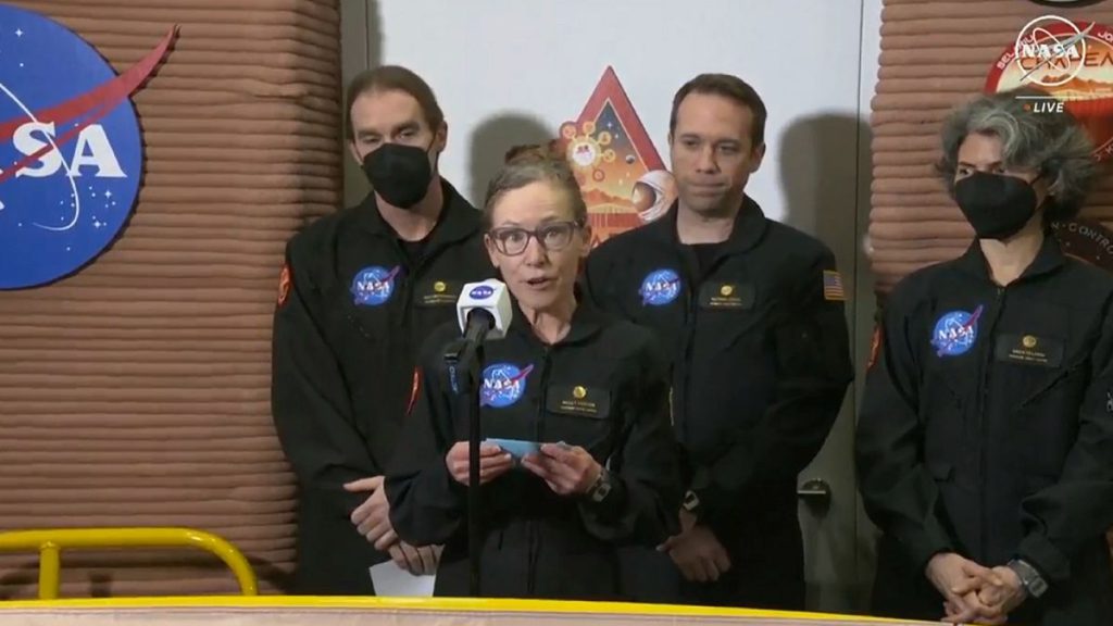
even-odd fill
[[[789,204],[780,175],[787,129],[816,116],[857,116],[860,2],[383,0],[371,3],[382,39],[368,56],[433,86],[450,121],[443,172],[465,195],[480,186],[473,173],[490,170],[490,155],[471,148],[477,131],[511,116],[520,119],[510,127],[555,135],[608,65],[666,163],[677,88],[701,71],[737,74],[770,111],[768,160],[749,190],[780,218]]]

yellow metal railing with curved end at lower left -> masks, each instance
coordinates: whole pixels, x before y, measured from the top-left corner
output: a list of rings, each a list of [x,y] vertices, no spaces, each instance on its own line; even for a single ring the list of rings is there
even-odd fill
[[[39,551],[39,598],[57,599],[61,587],[61,551],[75,548],[200,548],[227,565],[245,596],[258,594],[255,571],[228,541],[191,528],[58,528],[0,532],[0,552]]]

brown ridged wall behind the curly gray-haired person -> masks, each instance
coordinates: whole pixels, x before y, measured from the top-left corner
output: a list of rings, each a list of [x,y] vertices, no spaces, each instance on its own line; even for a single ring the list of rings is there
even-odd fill
[[[939,126],[976,96],[1024,25],[1048,13],[1113,25],[1113,2],[1048,8],[1021,0],[885,0],[877,94],[873,99],[874,179],[869,223],[877,291],[910,272],[962,254],[973,237],[935,177]],[[1083,215],[1113,224],[1113,179],[1099,184]]]

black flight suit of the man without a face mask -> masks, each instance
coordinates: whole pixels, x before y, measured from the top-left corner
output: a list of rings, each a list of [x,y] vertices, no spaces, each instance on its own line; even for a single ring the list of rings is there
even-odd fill
[[[854,378],[841,280],[823,243],[748,197],[729,239],[702,246],[702,258],[680,243],[677,211],[593,251],[587,285],[666,341],[684,486],[732,568],[699,585],[667,555],[632,550],[624,585],[637,601],[801,609],[797,475]]]

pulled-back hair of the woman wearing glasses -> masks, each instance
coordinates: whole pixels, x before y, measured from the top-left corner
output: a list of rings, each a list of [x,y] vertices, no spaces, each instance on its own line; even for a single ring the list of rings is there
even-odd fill
[[[580,182],[577,180],[564,155],[560,141],[515,146],[508,150],[502,169],[487,185],[486,197],[483,200],[484,226],[491,227],[494,205],[503,194],[533,183],[549,183],[564,190],[572,205],[572,218],[581,226],[587,224],[588,205],[580,193]]]

